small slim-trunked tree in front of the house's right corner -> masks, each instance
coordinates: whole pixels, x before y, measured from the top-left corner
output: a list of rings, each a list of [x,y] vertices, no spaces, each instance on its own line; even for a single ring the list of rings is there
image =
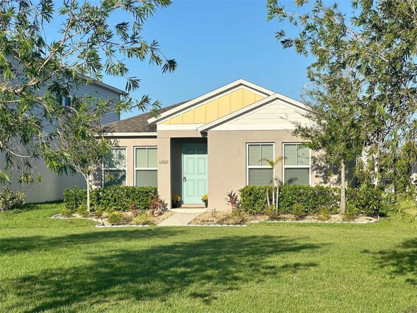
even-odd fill
[[[337,167],[341,178],[340,213],[346,209],[346,168],[348,163],[361,156],[362,145],[355,103],[359,101],[354,81],[348,75],[316,73],[312,88],[306,90],[308,112],[304,117],[310,124],[296,123],[294,135],[306,140],[305,146],[320,151],[323,157]]]

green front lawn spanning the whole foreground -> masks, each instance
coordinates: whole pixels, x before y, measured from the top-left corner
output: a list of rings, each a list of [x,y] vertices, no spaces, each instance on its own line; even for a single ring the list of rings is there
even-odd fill
[[[0,213],[0,312],[416,312],[417,228],[97,229]]]

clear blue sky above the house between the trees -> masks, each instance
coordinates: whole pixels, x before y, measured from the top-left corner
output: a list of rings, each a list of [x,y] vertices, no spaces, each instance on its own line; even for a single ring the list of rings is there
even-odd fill
[[[293,10],[293,1],[281,1]],[[350,1],[338,1],[349,11]],[[331,2],[326,2],[330,4]],[[162,106],[195,98],[238,78],[299,100],[307,82],[305,69],[311,60],[283,49],[275,32],[284,29],[294,34],[288,23],[267,22],[266,0],[173,0],[159,9],[144,25],[143,37],[156,39],[164,54],[178,62],[174,73],[162,74],[160,68],[147,62],[126,60],[129,76],[141,79],[133,97],[148,94]],[[57,3],[56,8],[61,5]],[[124,16],[112,16],[123,20]],[[52,22],[57,31],[59,20]],[[106,77],[104,81],[120,89],[122,78]],[[127,118],[142,113],[125,113]]]

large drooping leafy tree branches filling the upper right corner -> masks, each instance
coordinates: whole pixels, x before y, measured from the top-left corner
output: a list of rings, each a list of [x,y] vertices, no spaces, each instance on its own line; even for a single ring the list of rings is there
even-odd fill
[[[337,78],[348,72],[356,85],[354,105],[356,139],[366,157],[358,159],[355,174],[362,183],[377,184],[382,170],[395,173],[393,181],[416,192],[408,175],[396,166],[398,152],[407,143],[417,147],[417,11],[415,0],[353,0],[352,13],[338,3],[296,0],[297,9],[287,11],[277,0],[268,1],[268,18],[287,21],[298,29],[293,37],[278,31],[284,48],[310,56],[308,71]],[[414,164],[416,149],[402,161]],[[401,160],[400,160],[401,162]]]

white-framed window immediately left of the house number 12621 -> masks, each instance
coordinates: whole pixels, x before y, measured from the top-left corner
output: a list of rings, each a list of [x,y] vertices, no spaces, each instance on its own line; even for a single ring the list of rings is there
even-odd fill
[[[135,185],[157,186],[157,150],[156,147],[138,147],[135,149]]]

